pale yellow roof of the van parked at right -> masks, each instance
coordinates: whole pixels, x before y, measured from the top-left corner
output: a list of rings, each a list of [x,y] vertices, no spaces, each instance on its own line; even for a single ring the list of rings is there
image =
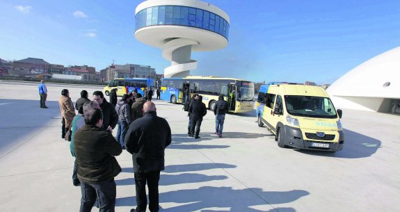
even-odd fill
[[[271,92],[280,95],[329,97],[325,89],[314,85],[261,85],[259,92]]]

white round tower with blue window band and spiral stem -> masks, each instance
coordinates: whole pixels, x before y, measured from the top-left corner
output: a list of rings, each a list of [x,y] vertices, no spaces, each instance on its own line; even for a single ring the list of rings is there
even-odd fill
[[[197,0],[147,0],[136,8],[135,38],[163,49],[171,61],[165,77],[189,76],[197,68],[191,51],[213,51],[227,46],[230,19],[209,3]]]

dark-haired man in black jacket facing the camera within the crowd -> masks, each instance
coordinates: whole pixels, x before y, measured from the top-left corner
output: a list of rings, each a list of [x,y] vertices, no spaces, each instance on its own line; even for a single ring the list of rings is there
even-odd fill
[[[102,129],[112,132],[115,126],[117,126],[118,124],[118,114],[115,111],[115,106],[113,106],[106,99],[104,99],[103,92],[99,90],[93,92],[93,101],[97,101],[97,103],[99,103],[100,105],[100,108],[102,109],[103,113]]]

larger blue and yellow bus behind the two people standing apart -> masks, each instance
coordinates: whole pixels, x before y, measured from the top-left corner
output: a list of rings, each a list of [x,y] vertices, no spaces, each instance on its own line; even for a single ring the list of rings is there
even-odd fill
[[[185,78],[163,78],[161,99],[173,104],[184,103],[194,92],[202,95],[203,102],[214,111],[220,94],[224,95],[231,113],[243,113],[254,109],[254,83],[241,79],[218,76],[187,76]]]

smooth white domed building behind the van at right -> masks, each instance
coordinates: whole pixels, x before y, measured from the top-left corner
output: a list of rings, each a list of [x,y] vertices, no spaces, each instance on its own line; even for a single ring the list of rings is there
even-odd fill
[[[400,113],[400,47],[358,65],[326,91],[339,108]]]

